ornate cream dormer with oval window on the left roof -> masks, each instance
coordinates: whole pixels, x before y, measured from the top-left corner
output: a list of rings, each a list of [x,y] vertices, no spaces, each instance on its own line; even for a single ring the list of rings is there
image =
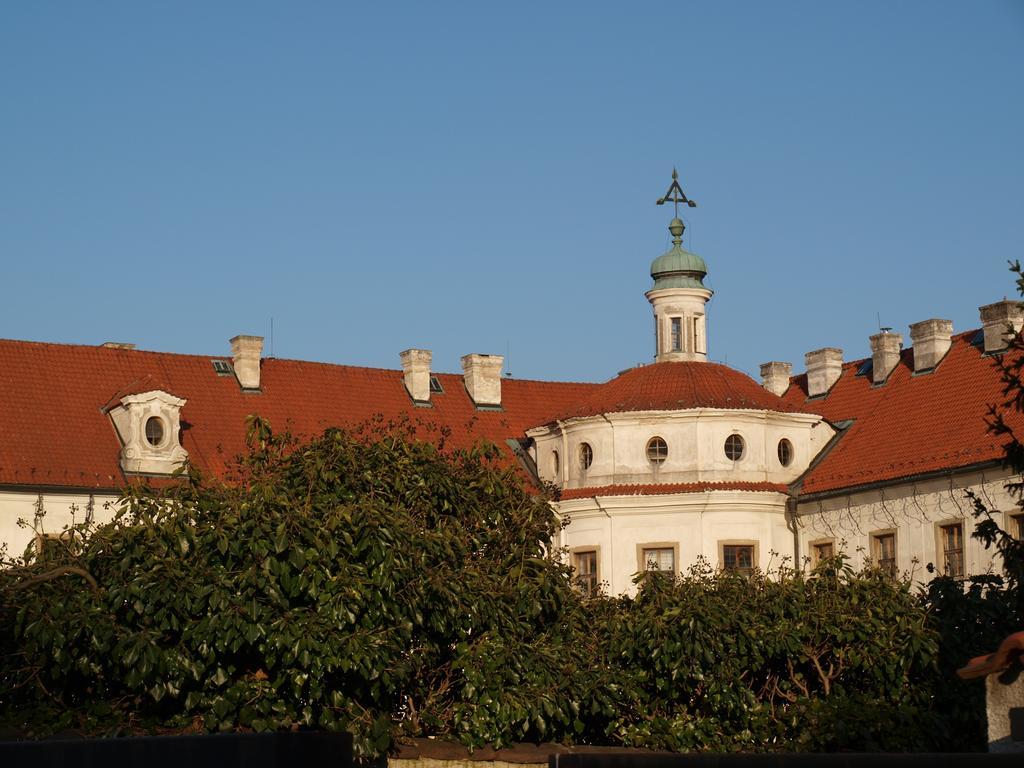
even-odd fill
[[[162,389],[121,395],[108,413],[121,439],[121,469],[128,474],[169,475],[188,453],[178,441],[185,400]]]

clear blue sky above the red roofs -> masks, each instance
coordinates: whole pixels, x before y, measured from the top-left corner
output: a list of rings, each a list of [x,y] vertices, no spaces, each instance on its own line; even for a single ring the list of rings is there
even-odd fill
[[[0,337],[606,379],[673,165],[712,357],[978,326],[1024,258],[1024,2],[4,3]]]

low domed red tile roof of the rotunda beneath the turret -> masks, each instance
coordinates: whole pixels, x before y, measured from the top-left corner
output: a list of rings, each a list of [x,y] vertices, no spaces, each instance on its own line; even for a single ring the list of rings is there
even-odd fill
[[[691,408],[799,411],[746,374],[718,362],[654,362],[624,371],[554,419]]]

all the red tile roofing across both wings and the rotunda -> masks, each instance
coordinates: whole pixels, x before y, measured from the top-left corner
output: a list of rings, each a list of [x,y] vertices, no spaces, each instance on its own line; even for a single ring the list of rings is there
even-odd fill
[[[220,357],[0,340],[0,484],[122,486],[120,442],[103,409],[125,394],[158,388],[187,400],[182,443],[197,466],[216,474],[244,450],[250,414],[304,436],[376,415],[409,417],[428,438],[444,429],[455,445],[482,437],[504,447],[507,439],[551,421],[552,414],[700,407],[818,413],[834,423],[853,423],[802,478],[799,493],[834,493],[1002,457],[1004,440],[988,434],[985,422],[987,407],[1004,399],[1002,385],[992,357],[972,343],[977,335],[954,336],[930,374],[913,375],[912,350],[905,350],[882,386],[858,376],[863,360],[848,362],[829,393],[813,399],[807,398],[804,375],[794,377],[779,398],[725,366],[663,362],[604,384],[505,379],[501,411],[476,410],[462,377],[454,374],[439,374],[444,392],[432,395],[433,408],[420,408],[406,392],[400,371],[266,358],[262,392],[246,393],[233,376],[214,371],[212,360]],[[610,486],[601,493],[713,489],[690,485]],[[595,493],[577,488],[562,498]]]

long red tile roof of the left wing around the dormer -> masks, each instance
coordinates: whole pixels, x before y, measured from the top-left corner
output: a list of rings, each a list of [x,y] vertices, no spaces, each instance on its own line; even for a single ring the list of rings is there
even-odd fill
[[[438,374],[432,408],[413,403],[400,371],[265,358],[259,393],[218,376],[207,355],[0,340],[0,483],[121,487],[121,444],[103,413],[129,393],[163,389],[187,400],[182,444],[203,470],[222,474],[245,449],[246,417],[311,436],[376,415],[411,418],[419,434],[451,430],[450,442],[479,438],[503,449],[552,410],[595,385],[505,379],[501,411],[477,411],[461,375]]]

